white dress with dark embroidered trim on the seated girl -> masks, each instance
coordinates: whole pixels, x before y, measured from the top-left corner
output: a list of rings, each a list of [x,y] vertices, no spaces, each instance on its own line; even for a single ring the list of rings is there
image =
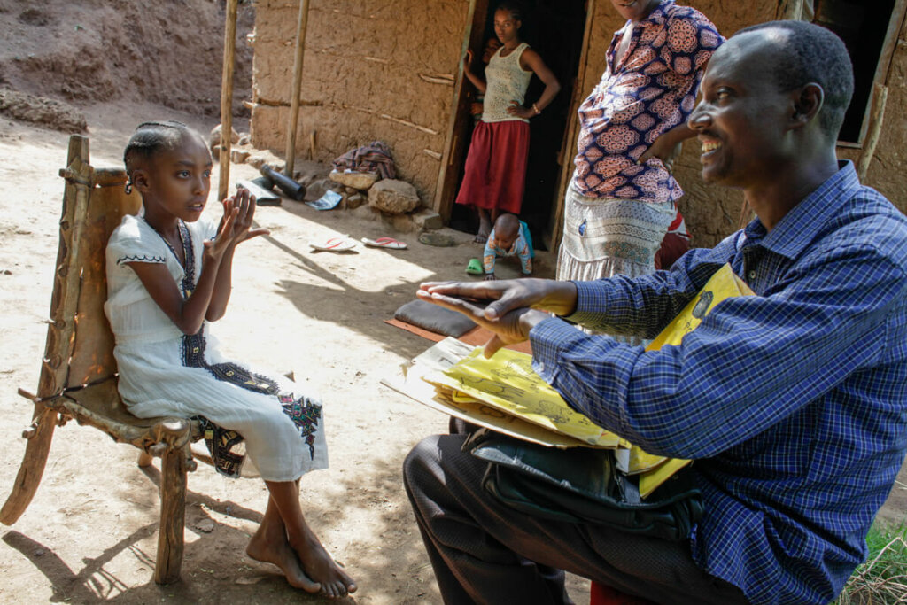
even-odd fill
[[[183,335],[127,264],[166,265],[188,297],[199,278],[202,242],[212,239],[216,230],[217,225],[206,220],[180,221],[185,269],[161,235],[140,217],[123,217],[113,231],[107,244],[104,311],[116,337],[113,355],[120,395],[140,418],[201,416],[209,421],[203,421],[206,441],[213,445],[221,473],[239,474],[242,458],[230,446],[241,435],[263,479],[295,481],[308,471],[327,468],[321,403],[287,378],[225,359],[208,334],[207,321],[198,334]]]

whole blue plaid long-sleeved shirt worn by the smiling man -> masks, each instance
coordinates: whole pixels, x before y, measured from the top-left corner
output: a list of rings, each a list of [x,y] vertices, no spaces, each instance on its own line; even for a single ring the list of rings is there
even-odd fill
[[[561,318],[533,364],[567,402],[655,454],[695,458],[691,549],[756,603],[827,603],[907,451],[907,220],[848,164],[766,232],[671,271],[577,283],[571,320],[652,336],[730,262],[756,297],[645,352]]]

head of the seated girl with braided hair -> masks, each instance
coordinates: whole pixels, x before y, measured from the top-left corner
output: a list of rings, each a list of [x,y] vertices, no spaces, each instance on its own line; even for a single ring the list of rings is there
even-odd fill
[[[141,194],[146,213],[152,205],[175,204],[173,214],[197,220],[210,191],[211,154],[198,132],[180,122],[142,122],[135,129],[123,162],[127,190]],[[179,210],[188,205],[186,216]]]

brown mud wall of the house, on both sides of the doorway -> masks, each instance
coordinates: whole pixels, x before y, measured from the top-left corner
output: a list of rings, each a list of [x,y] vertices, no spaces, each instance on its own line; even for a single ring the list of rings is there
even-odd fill
[[[778,0],[727,3],[688,0],[726,36],[749,24],[775,18]],[[394,151],[400,177],[413,182],[425,204],[434,199],[440,156],[449,128],[453,79],[466,27],[467,0],[400,0],[369,4],[355,0],[311,0],[297,131],[297,154],[331,161],[368,141],[383,140]],[[581,90],[588,93],[605,67],[611,35],[622,25],[610,0],[590,2],[590,48]],[[297,3],[260,0],[255,32],[251,132],[257,147],[286,147],[289,89],[293,82],[293,41]],[[902,31],[889,73],[883,135],[867,184],[907,211],[907,175],[900,170],[907,140],[907,28]],[[580,95],[580,96],[584,96]],[[572,151],[571,151],[572,153]],[[856,160],[859,150],[839,149]],[[699,178],[699,145],[684,144],[675,174],[686,191],[680,210],[696,246],[712,246],[737,228],[743,195],[706,186]]]

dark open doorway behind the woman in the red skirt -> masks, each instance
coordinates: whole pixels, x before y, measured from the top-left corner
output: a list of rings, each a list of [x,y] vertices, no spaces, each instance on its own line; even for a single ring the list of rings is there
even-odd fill
[[[532,231],[535,248],[544,249],[543,242],[551,237],[551,207],[556,203],[558,178],[561,174],[561,148],[571,118],[571,99],[576,76],[580,67],[583,32],[586,26],[585,0],[535,0],[525,2],[522,40],[529,43],[541,55],[561,83],[551,105],[541,115],[530,120],[529,158],[526,170],[526,192],[522,200],[520,219],[526,221]],[[473,48],[473,66],[481,64],[485,41],[494,36],[494,9],[497,2],[490,2],[484,15],[484,33],[477,48]],[[479,21],[479,15],[476,21]],[[471,84],[468,84],[472,88]],[[541,96],[544,84],[533,76],[526,92],[526,104]],[[471,93],[474,95],[474,90]],[[460,136],[468,141],[472,136],[472,121],[464,121]],[[572,145],[573,141],[570,141]],[[572,161],[573,154],[564,154],[565,161]],[[457,190],[463,181],[463,163],[457,170]],[[453,204],[450,226],[474,233],[478,222],[472,208]],[[547,237],[546,237],[547,236]]]

